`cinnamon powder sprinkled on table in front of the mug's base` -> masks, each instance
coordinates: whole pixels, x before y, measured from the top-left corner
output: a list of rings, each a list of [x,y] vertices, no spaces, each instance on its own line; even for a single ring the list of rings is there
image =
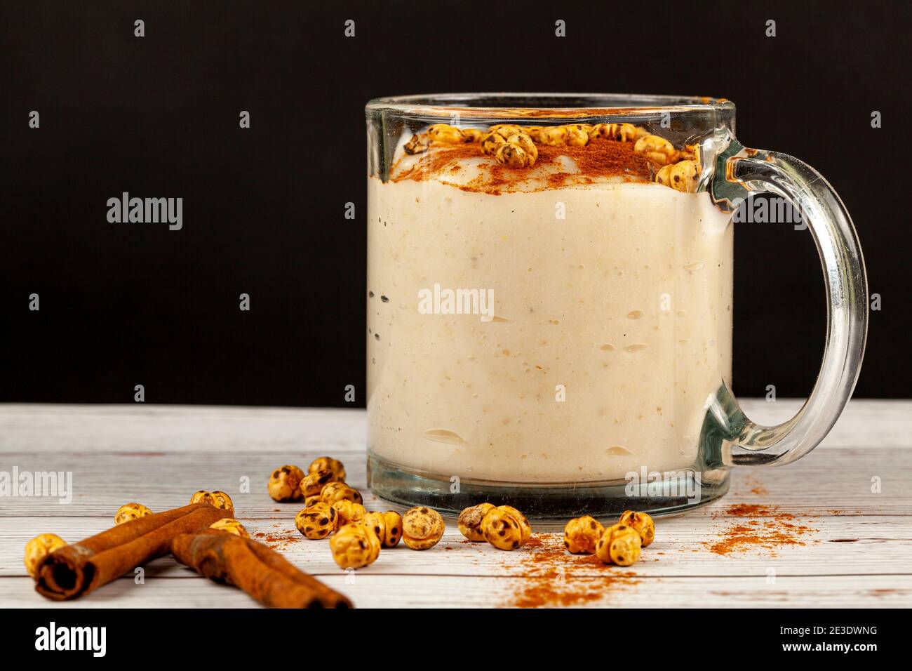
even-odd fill
[[[589,575],[575,574],[585,569]],[[592,571],[596,575],[591,575]],[[595,555],[569,554],[561,534],[534,533],[523,546],[516,592],[504,605],[517,608],[573,606],[602,601],[612,592],[637,584],[635,571],[598,561]]]

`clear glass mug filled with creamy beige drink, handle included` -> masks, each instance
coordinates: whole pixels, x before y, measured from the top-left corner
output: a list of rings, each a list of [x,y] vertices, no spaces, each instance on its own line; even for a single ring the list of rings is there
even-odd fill
[[[731,101],[444,94],[366,113],[379,497],[678,512],[834,425],[865,349],[855,229],[813,168],[741,146]],[[778,426],[730,388],[732,213],[753,194],[800,213],[826,286],[820,373]]]

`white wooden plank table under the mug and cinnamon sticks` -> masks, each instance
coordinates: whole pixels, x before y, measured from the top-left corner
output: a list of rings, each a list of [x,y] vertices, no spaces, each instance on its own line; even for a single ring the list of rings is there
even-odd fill
[[[798,402],[744,406],[756,421],[772,422],[793,414]],[[78,541],[109,528],[123,503],[159,511],[186,504],[203,488],[231,494],[236,517],[252,534],[264,534],[360,607],[509,606],[538,603],[542,593],[552,595],[547,603],[589,606],[912,605],[912,402],[853,401],[810,456],[788,467],[736,469],[721,501],[658,519],[655,543],[623,570],[569,555],[554,560],[561,542],[554,525],[534,524],[541,534],[534,547],[504,552],[463,542],[447,519],[446,535],[432,550],[400,545],[354,577],[340,571],[326,540],[308,541],[295,530],[300,506],[276,504],[266,481],[282,464],[306,467],[316,456],[336,456],[368,509],[395,508],[365,488],[364,428],[364,412],[355,410],[0,405],[0,471],[72,471],[74,488],[68,505],[0,498],[0,607],[52,605],[36,594],[22,564],[23,546],[38,533]],[[249,494],[238,493],[243,477],[250,478]],[[735,504],[766,509],[732,515]],[[793,519],[782,521],[783,513]],[[781,533],[785,524],[805,528],[794,535],[803,544],[712,550],[738,537],[739,527]],[[169,557],[150,563],[142,584],[126,576],[53,605],[257,604]]]

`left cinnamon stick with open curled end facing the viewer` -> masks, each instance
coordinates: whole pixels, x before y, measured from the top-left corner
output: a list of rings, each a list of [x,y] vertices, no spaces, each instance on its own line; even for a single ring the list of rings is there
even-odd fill
[[[176,536],[206,529],[232,514],[207,503],[192,503],[132,519],[51,552],[38,565],[35,589],[55,601],[75,599],[168,554]]]

